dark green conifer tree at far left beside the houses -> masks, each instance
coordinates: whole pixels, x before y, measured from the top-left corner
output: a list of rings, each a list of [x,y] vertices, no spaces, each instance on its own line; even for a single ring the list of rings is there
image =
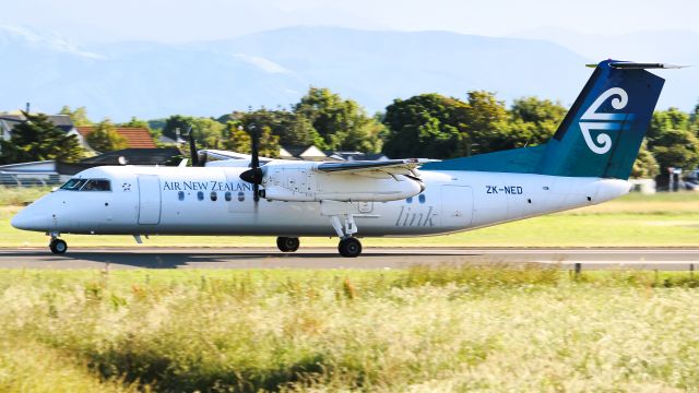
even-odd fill
[[[26,121],[12,129],[9,141],[0,141],[3,164],[55,159],[75,163],[84,151],[75,135],[68,135],[44,114],[24,114]]]

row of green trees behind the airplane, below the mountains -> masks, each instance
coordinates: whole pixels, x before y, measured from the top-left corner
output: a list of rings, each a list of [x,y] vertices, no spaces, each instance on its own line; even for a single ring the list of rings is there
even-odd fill
[[[568,109],[537,97],[513,100],[508,107],[485,91],[465,99],[420,94],[394,99],[383,112],[370,116],[359,104],[328,88],[310,87],[288,108],[234,110],[218,118],[173,115],[165,119],[109,119],[93,123],[84,107],[63,107],[75,126],[94,126],[87,143],[98,152],[120,150],[126,140],[116,127],[143,127],[157,143],[191,130],[200,146],[249,153],[251,126],[260,136],[260,153],[279,156],[280,146],[316,145],[330,151],[382,152],[392,158],[453,158],[546,143]],[[633,177],[655,177],[667,167],[699,165],[699,105],[690,114],[677,108],[655,111],[633,167]],[[44,115],[26,114],[10,141],[0,142],[2,163],[40,159],[75,162],[85,152]],[[663,171],[664,172],[664,171]]]

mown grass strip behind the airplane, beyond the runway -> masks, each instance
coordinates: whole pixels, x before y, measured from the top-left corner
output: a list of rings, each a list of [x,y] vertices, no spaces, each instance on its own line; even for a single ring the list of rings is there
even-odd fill
[[[24,193],[23,193],[24,192]],[[27,193],[28,192],[28,193]],[[40,192],[0,192],[0,247],[45,247],[43,234],[16,230],[10,217]],[[129,236],[66,235],[71,247],[129,246]],[[368,247],[624,247],[699,246],[699,193],[630,194],[601,205],[530,218],[447,236],[365,239]],[[274,246],[269,237],[152,237],[147,246],[245,247]],[[336,239],[303,238],[301,246],[335,247]]]

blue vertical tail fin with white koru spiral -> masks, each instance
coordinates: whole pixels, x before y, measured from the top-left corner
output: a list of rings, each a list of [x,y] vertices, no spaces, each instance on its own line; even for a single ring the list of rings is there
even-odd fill
[[[664,80],[665,64],[602,61],[546,144],[536,172],[628,179]]]

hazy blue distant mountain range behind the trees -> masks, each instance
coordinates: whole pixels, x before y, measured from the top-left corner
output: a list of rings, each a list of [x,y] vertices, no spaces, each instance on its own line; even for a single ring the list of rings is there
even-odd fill
[[[26,102],[46,111],[85,106],[95,120],[117,121],[287,107],[311,85],[353,98],[370,112],[398,97],[464,97],[471,90],[494,91],[506,100],[537,95],[570,105],[590,74],[582,66],[593,61],[542,39],[334,27],[88,47],[0,27],[0,110]],[[695,99],[673,104],[688,108]]]

